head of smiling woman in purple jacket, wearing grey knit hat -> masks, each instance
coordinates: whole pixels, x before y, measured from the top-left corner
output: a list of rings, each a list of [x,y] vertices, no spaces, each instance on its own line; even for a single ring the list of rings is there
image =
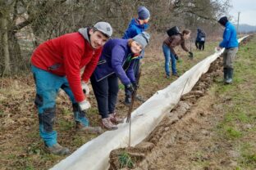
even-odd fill
[[[134,54],[139,54],[149,43],[150,35],[146,32],[136,35],[134,38],[129,40],[130,50]]]

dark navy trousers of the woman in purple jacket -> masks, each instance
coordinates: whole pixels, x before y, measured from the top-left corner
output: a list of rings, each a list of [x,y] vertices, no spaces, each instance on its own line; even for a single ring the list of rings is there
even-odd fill
[[[105,119],[108,117],[108,114],[115,112],[119,90],[117,75],[112,74],[97,82],[93,74],[90,81],[98,103],[98,113],[102,116],[102,119]]]

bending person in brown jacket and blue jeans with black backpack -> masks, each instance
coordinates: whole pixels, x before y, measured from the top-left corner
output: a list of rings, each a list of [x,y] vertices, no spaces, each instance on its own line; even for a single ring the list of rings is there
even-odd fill
[[[189,39],[189,38],[190,38],[190,30],[184,29],[182,31],[182,34],[171,35],[171,37],[166,38],[162,42],[162,51],[165,56],[166,78],[170,78],[170,69],[169,69],[170,60],[171,60],[172,75],[179,77],[179,74],[177,73],[177,69],[176,69],[176,60],[178,60],[179,57],[174,51],[174,48],[176,46],[181,45],[184,51],[189,52],[190,56],[193,56],[193,53],[189,51],[187,47],[185,47],[185,39]]]

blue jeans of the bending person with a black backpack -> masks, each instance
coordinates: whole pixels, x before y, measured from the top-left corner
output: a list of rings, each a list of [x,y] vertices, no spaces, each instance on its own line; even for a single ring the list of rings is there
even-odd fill
[[[176,58],[174,56],[174,54],[171,53],[170,47],[167,46],[167,44],[163,43],[162,44],[162,51],[165,57],[165,71],[167,76],[170,76],[170,60],[171,60],[171,71],[172,74],[176,74],[177,73],[177,69],[176,69]]]

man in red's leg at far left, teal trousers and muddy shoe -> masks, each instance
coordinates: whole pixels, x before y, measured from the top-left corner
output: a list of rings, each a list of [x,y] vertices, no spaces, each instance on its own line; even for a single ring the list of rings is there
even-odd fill
[[[34,104],[39,111],[39,134],[53,154],[69,154],[67,148],[57,144],[57,132],[53,130],[56,106],[55,100],[62,78],[32,65],[36,97]]]

